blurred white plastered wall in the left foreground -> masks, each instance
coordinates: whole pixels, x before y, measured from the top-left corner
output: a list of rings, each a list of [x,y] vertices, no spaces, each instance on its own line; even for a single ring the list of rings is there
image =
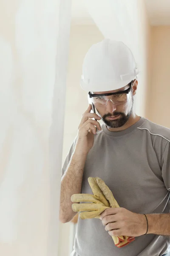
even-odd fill
[[[0,1],[3,256],[57,256],[70,20],[69,0]]]

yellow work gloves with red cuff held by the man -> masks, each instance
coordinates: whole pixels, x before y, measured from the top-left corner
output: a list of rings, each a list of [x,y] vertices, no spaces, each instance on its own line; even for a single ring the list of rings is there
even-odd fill
[[[81,212],[79,217],[85,218],[100,218],[100,214],[109,207],[119,207],[119,204],[113,197],[111,190],[106,186],[105,182],[99,177],[88,178],[88,183],[91,186],[91,194],[75,194],[71,196],[71,201],[77,202],[93,202],[89,204],[72,204],[72,209],[75,212]],[[84,212],[82,212],[84,211]],[[134,241],[133,237],[128,236],[112,236],[114,244],[117,247],[123,247]]]

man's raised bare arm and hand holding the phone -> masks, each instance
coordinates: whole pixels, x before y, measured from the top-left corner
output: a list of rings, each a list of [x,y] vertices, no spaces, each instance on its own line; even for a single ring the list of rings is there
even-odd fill
[[[92,118],[100,120],[100,116],[91,112],[91,105],[82,116],[79,124],[79,130],[75,145],[71,149],[72,154],[68,155],[63,168],[60,192],[59,219],[65,223],[71,221],[76,212],[72,210],[71,196],[80,194],[82,188],[82,177],[85,167],[85,161],[88,152],[94,144],[94,134],[96,127],[101,130],[99,122]],[[70,152],[71,152],[70,151]],[[70,160],[70,161],[69,161]],[[69,163],[68,163],[69,161]]]

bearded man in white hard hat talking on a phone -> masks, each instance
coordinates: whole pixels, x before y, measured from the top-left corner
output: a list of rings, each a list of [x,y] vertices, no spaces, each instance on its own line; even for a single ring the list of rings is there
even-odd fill
[[[122,42],[105,39],[85,56],[81,86],[91,104],[62,169],[60,220],[76,214],[71,195],[91,194],[88,177],[104,180],[120,208],[79,218],[71,256],[169,255],[170,129],[136,115],[138,73]],[[135,241],[117,248],[111,236]]]

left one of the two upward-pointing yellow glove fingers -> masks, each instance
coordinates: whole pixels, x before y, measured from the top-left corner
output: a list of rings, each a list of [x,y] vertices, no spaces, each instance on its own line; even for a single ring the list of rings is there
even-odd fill
[[[99,188],[96,178],[89,177],[88,183],[91,186],[91,190],[94,193],[94,195],[99,199],[105,206],[110,206],[108,200],[105,198],[105,195],[103,194],[102,190]]]

